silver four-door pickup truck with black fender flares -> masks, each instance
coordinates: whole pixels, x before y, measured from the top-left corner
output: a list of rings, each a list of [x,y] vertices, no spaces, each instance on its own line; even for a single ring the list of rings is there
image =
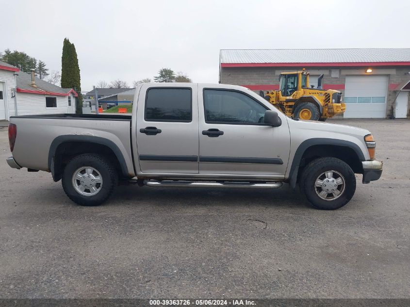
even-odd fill
[[[149,187],[276,189],[299,185],[332,210],[381,176],[365,129],[286,117],[235,85],[143,83],[132,115],[13,116],[8,164],[50,172],[77,204],[103,203],[123,182]]]

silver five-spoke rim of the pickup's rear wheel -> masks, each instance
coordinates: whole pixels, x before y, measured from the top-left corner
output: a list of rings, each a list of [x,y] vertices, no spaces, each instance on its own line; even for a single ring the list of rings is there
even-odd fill
[[[73,187],[82,196],[94,196],[101,191],[102,176],[94,167],[83,166],[74,172]]]

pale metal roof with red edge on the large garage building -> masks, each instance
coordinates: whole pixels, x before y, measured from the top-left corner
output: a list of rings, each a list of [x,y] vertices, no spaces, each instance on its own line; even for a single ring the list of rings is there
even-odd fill
[[[222,49],[219,62],[222,67],[252,66],[249,64],[255,64],[253,66],[410,65],[410,48]]]

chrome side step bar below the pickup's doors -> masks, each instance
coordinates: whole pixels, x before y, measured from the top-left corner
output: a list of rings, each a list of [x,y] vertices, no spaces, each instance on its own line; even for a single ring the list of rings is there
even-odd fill
[[[148,187],[170,188],[241,188],[241,189],[279,189],[282,182],[214,182],[214,181],[175,181],[144,180]]]

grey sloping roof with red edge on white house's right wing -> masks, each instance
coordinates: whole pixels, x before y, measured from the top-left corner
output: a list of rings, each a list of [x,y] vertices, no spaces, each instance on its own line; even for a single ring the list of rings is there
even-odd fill
[[[78,96],[72,88],[61,88],[60,86],[41,80],[37,77],[34,77],[35,85],[37,87],[33,87],[31,81],[31,74],[22,71],[19,72],[18,76],[16,76],[17,92],[55,96],[68,96],[70,93],[73,93],[75,97]]]

